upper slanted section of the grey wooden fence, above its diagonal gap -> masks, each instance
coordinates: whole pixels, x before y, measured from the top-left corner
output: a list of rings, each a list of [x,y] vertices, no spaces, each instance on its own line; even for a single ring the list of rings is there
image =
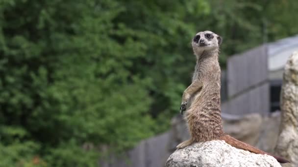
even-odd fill
[[[227,60],[228,97],[268,79],[267,45],[234,55]]]

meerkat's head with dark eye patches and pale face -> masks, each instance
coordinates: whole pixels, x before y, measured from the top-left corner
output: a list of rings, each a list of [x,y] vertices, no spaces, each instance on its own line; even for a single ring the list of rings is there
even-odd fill
[[[222,44],[222,37],[212,31],[202,31],[196,34],[193,38],[192,46],[195,54],[200,54],[202,51],[219,50]]]

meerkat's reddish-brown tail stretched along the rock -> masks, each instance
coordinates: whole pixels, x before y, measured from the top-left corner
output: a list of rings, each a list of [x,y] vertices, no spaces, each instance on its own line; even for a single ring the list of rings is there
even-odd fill
[[[256,153],[256,154],[267,154],[267,155],[270,155],[270,156],[273,156],[279,163],[281,164],[284,164],[284,163],[290,163],[290,161],[282,158],[282,157],[278,157],[278,156],[274,156],[272,154],[269,154],[268,152],[265,152],[265,151],[262,151],[258,148],[255,148],[253,146],[250,146],[244,142],[241,142],[229,135],[224,135],[220,138],[221,140],[224,140],[225,143],[231,145],[231,146],[234,146],[236,148],[240,148],[240,149],[244,149],[244,150],[247,150],[249,152],[253,152],[253,153]]]

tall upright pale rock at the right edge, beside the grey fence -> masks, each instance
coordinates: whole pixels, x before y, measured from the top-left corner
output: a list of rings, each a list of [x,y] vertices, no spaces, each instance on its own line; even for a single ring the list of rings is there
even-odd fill
[[[281,89],[281,125],[275,154],[291,162],[284,167],[298,167],[298,52],[288,59]]]

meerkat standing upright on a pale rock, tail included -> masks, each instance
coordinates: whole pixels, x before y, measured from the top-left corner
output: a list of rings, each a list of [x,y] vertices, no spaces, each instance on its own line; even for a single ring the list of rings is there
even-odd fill
[[[268,154],[224,133],[221,118],[221,68],[219,52],[222,38],[211,32],[203,31],[192,40],[197,64],[192,84],[183,92],[180,113],[185,111],[185,120],[191,138],[176,146],[184,148],[196,142],[224,140],[227,144],[257,154]],[[271,155],[273,156],[273,155]],[[273,156],[279,163],[289,163],[284,158]]]

